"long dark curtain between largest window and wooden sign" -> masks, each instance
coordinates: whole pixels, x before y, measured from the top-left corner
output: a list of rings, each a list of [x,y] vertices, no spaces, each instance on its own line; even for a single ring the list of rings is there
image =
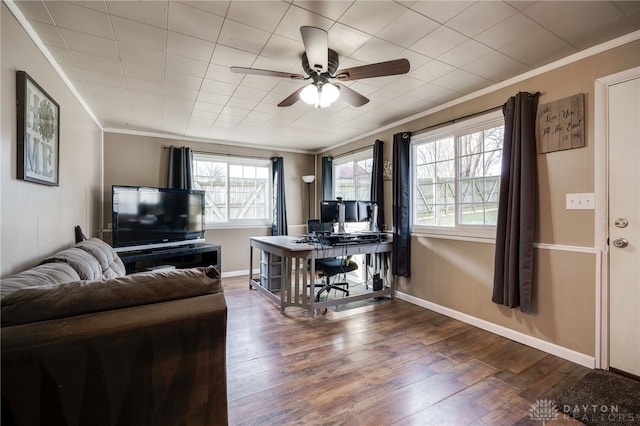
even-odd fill
[[[504,147],[493,279],[495,303],[531,313],[536,221],[536,132],[539,93],[520,92],[502,107]]]

